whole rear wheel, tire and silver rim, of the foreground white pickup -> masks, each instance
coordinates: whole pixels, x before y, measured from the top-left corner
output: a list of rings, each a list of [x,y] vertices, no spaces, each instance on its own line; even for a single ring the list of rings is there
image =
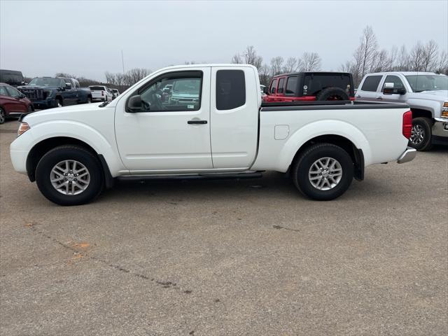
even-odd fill
[[[307,197],[328,201],[339,197],[353,180],[353,161],[349,153],[333,144],[307,148],[293,167],[293,182]]]

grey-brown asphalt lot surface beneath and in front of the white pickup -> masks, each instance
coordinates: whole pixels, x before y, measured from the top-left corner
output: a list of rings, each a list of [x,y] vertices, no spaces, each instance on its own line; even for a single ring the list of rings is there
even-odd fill
[[[447,335],[448,149],[338,200],[277,173],[59,207],[0,125],[1,335]]]

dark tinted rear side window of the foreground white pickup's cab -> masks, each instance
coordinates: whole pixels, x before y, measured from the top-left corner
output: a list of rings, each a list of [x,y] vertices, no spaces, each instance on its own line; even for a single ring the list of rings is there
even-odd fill
[[[242,70],[216,72],[216,109],[231,110],[246,104],[246,80]]]

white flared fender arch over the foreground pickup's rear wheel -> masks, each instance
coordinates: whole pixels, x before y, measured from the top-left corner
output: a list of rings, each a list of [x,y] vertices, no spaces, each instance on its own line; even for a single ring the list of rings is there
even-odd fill
[[[365,135],[355,126],[341,120],[319,120],[296,130],[286,141],[279,153],[279,168],[285,170],[293,162],[294,156],[307,141],[322,135],[339,135],[349,139],[356,148],[363,150],[365,165],[372,161],[372,151]]]

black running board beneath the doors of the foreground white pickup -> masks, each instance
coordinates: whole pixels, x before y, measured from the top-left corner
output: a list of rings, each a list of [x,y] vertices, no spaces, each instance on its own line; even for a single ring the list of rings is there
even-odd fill
[[[119,181],[173,181],[173,180],[235,180],[235,179],[260,179],[261,172],[231,173],[231,174],[191,174],[191,175],[127,175],[118,176]]]

